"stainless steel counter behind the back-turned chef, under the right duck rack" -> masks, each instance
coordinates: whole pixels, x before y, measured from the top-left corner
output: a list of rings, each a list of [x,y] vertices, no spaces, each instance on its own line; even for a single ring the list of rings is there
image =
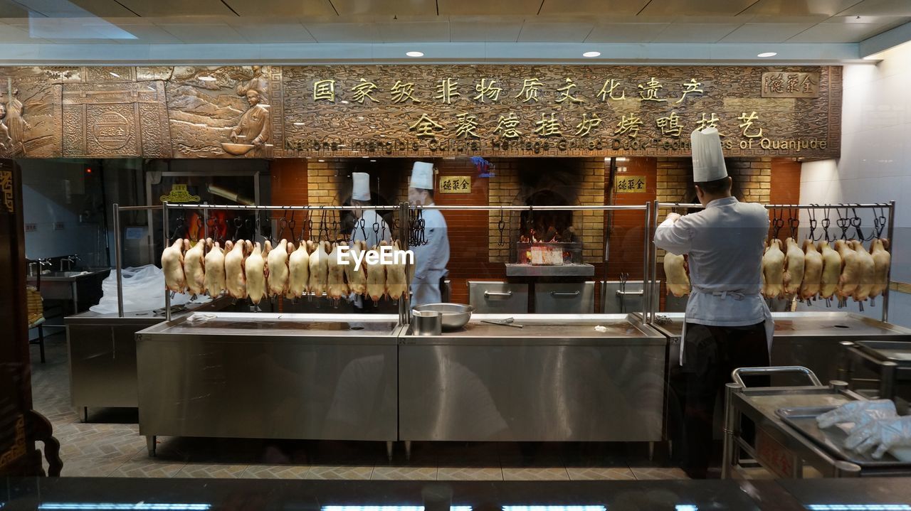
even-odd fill
[[[772,365],[808,367],[824,382],[839,379],[841,341],[911,341],[911,329],[849,312],[773,312],[772,316],[775,320]],[[683,314],[657,313],[651,326],[668,336],[670,363],[676,364]],[[773,385],[783,383],[785,378],[773,376]]]

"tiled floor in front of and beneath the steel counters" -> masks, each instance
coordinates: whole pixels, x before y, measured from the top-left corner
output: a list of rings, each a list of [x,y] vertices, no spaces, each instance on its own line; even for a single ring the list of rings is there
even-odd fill
[[[37,358],[37,347],[33,346]],[[648,460],[644,444],[415,443],[411,461],[396,446],[371,442],[266,441],[159,437],[150,458],[135,409],[90,409],[79,420],[69,402],[66,337],[46,337],[46,364],[32,365],[37,411],[54,424],[63,476],[382,480],[680,479],[679,468]]]

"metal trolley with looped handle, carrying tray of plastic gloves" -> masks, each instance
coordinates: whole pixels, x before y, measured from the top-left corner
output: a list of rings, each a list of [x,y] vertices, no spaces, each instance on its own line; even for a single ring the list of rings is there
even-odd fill
[[[776,373],[802,373],[810,385],[743,384],[742,376]],[[876,461],[847,453],[846,435],[841,430],[823,431],[817,426],[816,416],[849,401],[864,399],[848,390],[845,382],[833,381],[824,386],[812,371],[800,366],[740,368],[734,370],[732,377],[734,383],[725,389],[722,478],[750,478],[750,465],[754,463],[786,478],[911,475],[911,463],[889,455]],[[744,435],[744,418],[755,426],[754,438]]]

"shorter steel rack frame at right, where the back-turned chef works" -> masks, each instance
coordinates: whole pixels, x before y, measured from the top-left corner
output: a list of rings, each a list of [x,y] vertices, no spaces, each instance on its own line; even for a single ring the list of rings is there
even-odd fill
[[[872,204],[764,204],[763,206],[767,210],[793,210],[793,211],[823,210],[825,212],[829,212],[831,210],[835,210],[836,212],[838,212],[839,210],[846,211],[848,209],[851,209],[851,210],[855,210],[855,209],[888,210],[888,216],[886,218],[886,225],[885,225],[886,238],[891,241],[893,238],[893,235],[895,234],[896,201],[890,201],[887,203],[872,203]],[[663,209],[670,209],[670,208],[684,208],[684,209],[700,208],[701,209],[703,207],[704,206],[701,204],[659,202],[657,200],[654,201],[654,206],[651,209],[652,215],[653,215],[652,221],[650,223],[651,239],[652,240],[654,239],[655,229],[657,229],[658,225],[659,225],[658,218],[659,218],[660,209],[662,209],[662,208]],[[828,217],[826,217],[826,220],[828,220]],[[840,214],[839,214],[839,220],[842,220]],[[815,221],[815,217],[814,217],[814,221]],[[799,226],[800,220],[797,219],[797,222],[798,222],[798,226]],[[847,229],[852,228],[852,227],[856,228],[859,226],[862,226],[862,225],[839,226],[837,228],[840,228],[842,230],[842,233],[844,234],[844,232]],[[649,229],[648,226],[646,228]],[[799,228],[799,227],[793,227],[793,228]],[[811,229],[814,229],[814,228],[815,228],[815,226],[811,225]],[[824,228],[825,228],[825,231],[828,232],[828,224],[826,224],[826,226]],[[655,246],[653,241],[651,241],[648,245],[649,245],[649,249],[647,250],[647,252],[650,252],[649,256],[651,259],[651,263],[650,263],[651,276],[654,279],[654,282],[652,282],[652,286],[655,286],[657,283],[657,280],[658,280],[658,278],[657,278],[658,277],[658,247]],[[891,276],[891,274],[892,274],[892,267],[890,264],[889,272],[886,275],[886,279],[888,279],[889,276]],[[649,287],[651,287],[651,286],[649,286]],[[882,321],[884,323],[888,321],[888,316],[889,316],[889,294],[890,294],[889,286],[886,286],[885,291],[883,292]],[[652,323],[654,323],[655,316],[658,313],[658,305],[659,305],[659,301],[660,301],[660,289],[656,289],[655,293],[650,294],[650,296],[647,300],[649,301],[649,304],[648,304],[648,306],[645,307],[646,310],[648,311],[648,316],[646,316],[646,322],[648,324],[652,324]]]

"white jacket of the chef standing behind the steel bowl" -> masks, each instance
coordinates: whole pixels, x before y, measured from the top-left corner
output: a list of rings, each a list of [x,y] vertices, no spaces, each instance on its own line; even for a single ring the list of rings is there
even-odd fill
[[[427,245],[411,246],[415,253],[415,279],[411,282],[411,306],[437,304],[442,300],[440,279],[449,263],[446,221],[437,209],[422,211]]]

